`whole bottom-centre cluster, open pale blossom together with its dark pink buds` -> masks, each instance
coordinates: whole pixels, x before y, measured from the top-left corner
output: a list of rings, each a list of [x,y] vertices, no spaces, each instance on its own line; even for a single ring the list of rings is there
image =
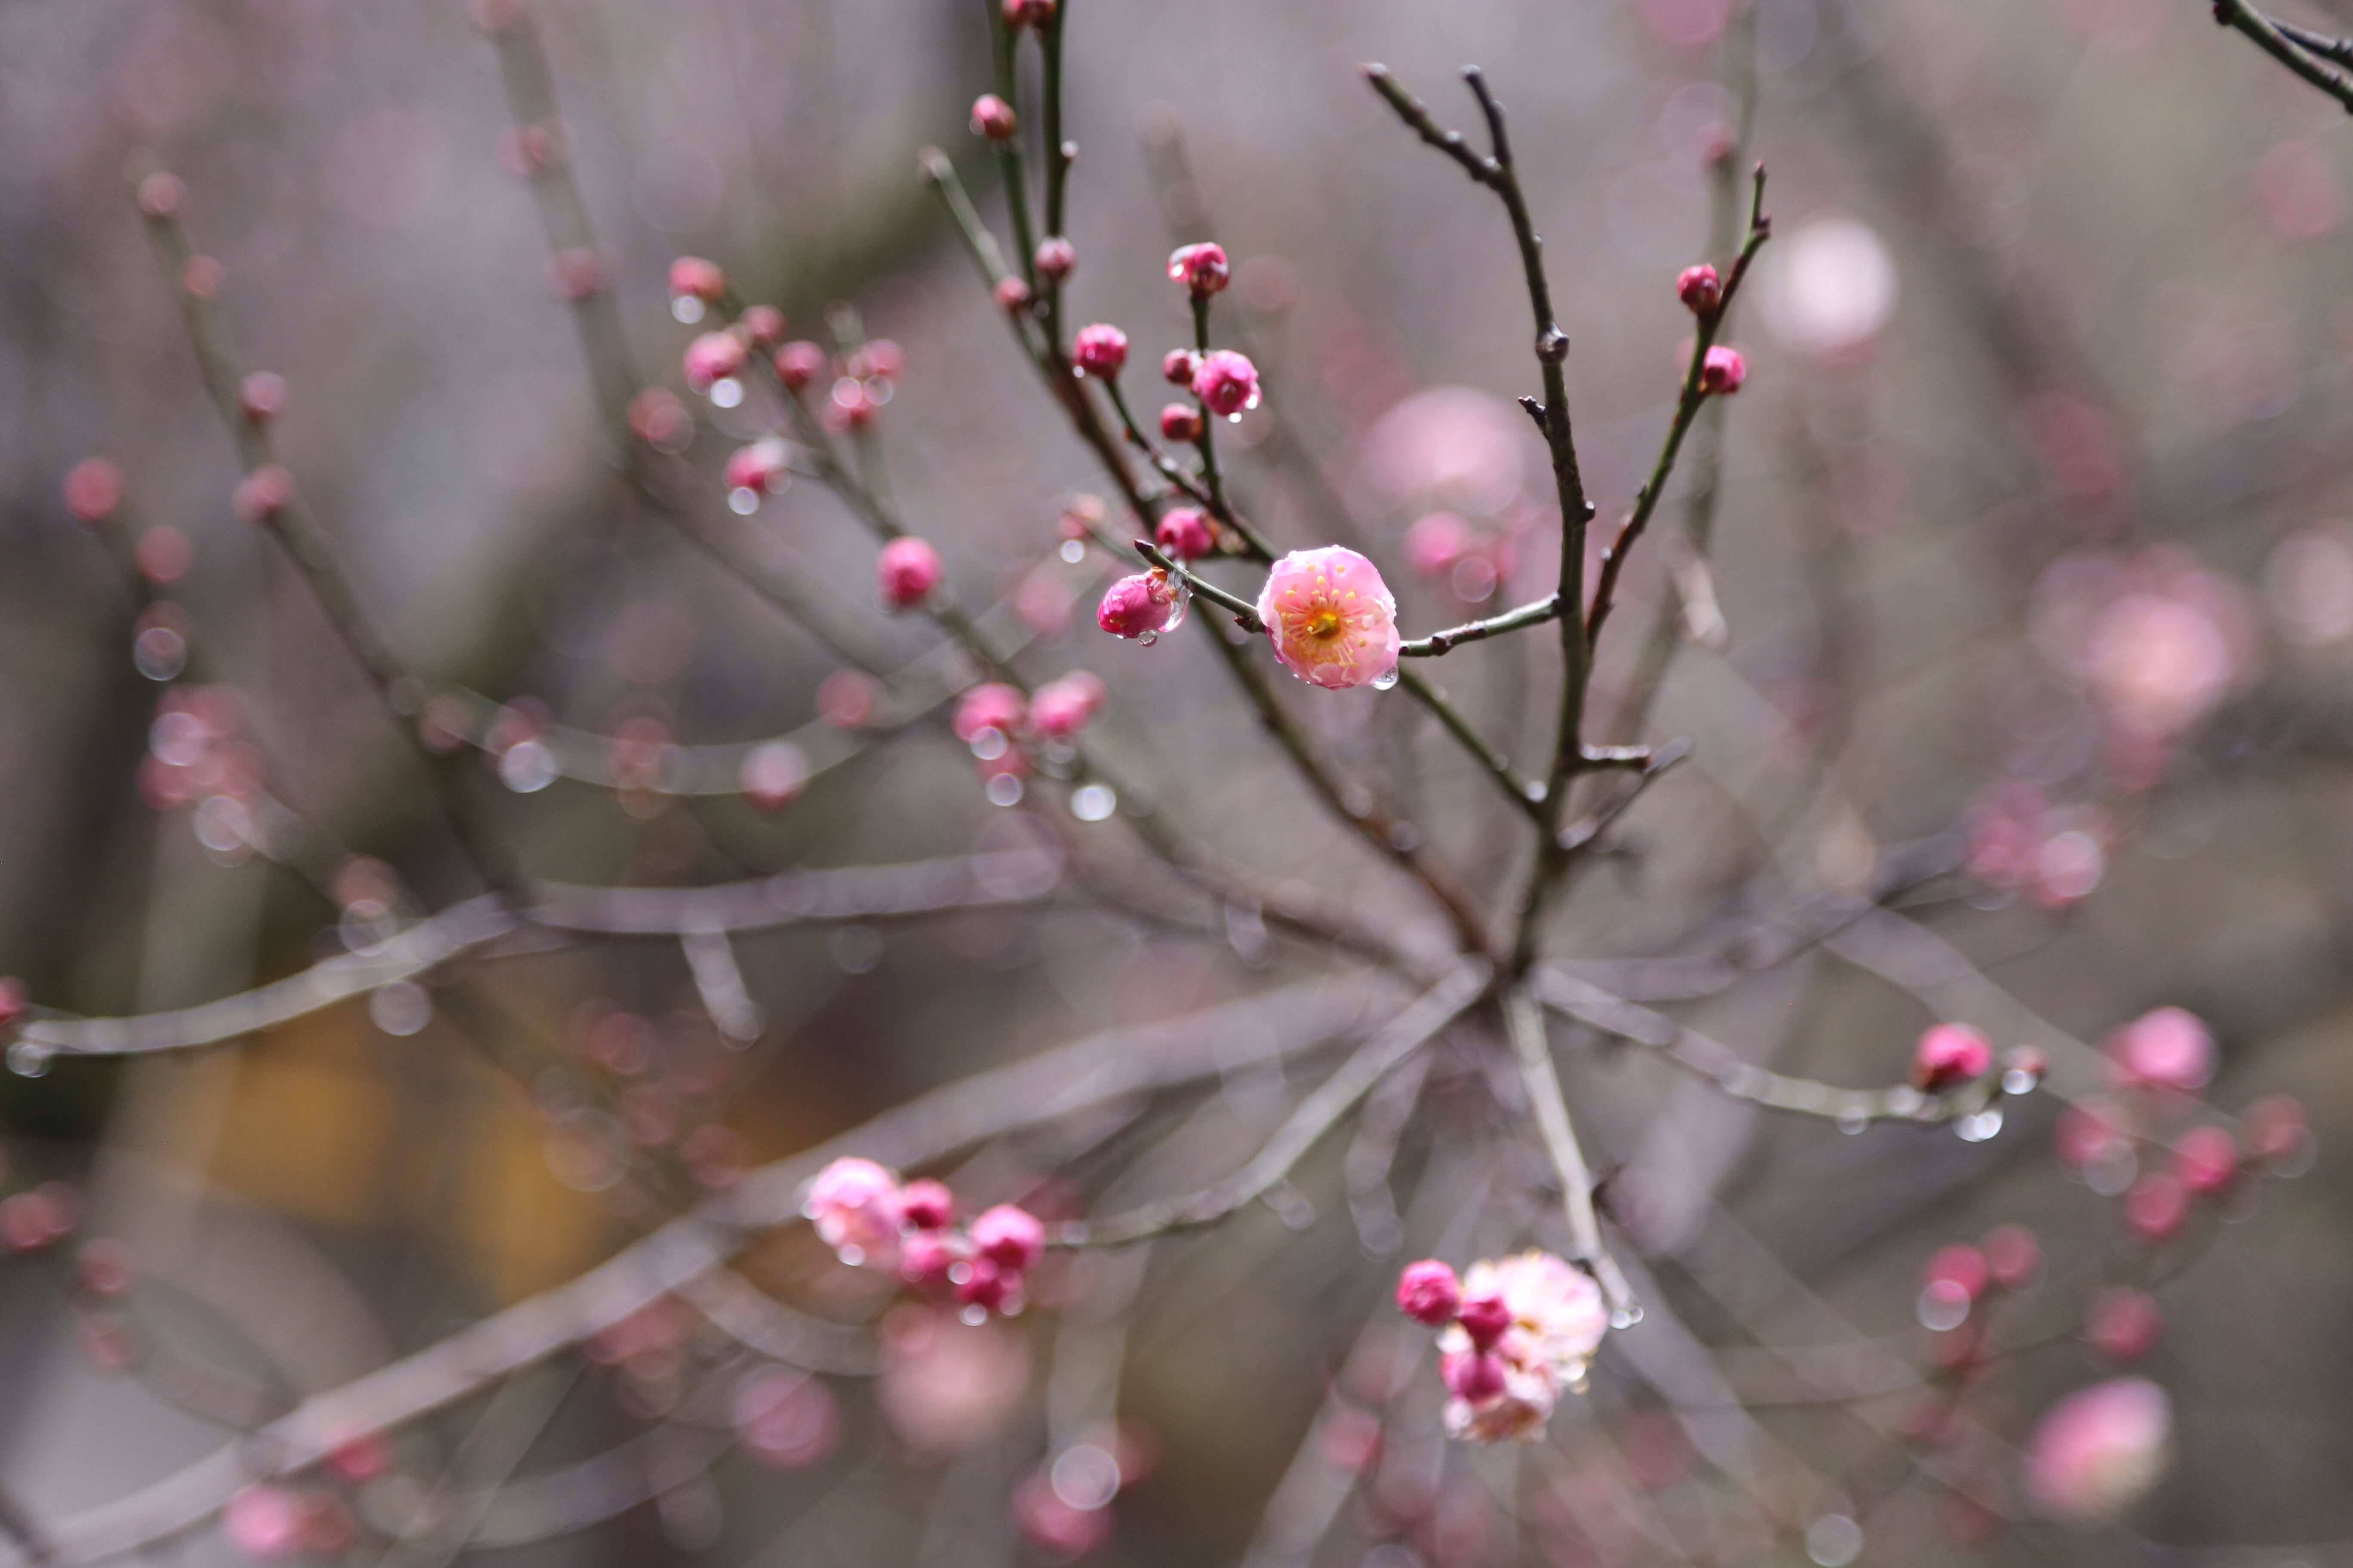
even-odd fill
[[[1435,1258],[1398,1276],[1398,1309],[1438,1331],[1447,1434],[1534,1443],[1609,1331],[1600,1286],[1553,1253],[1480,1260],[1461,1279]]]

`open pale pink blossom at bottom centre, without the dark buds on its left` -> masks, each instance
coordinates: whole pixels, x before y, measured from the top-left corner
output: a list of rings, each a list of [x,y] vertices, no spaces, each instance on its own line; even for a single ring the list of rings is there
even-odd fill
[[[1609,1331],[1602,1293],[1588,1274],[1539,1251],[1473,1262],[1461,1288],[1464,1312],[1501,1300],[1508,1319],[1492,1349],[1482,1349],[1461,1321],[1438,1335],[1452,1394],[1447,1432],[1478,1443],[1532,1443],[1544,1436],[1560,1394],[1584,1387],[1586,1363]],[[1497,1368],[1501,1387],[1494,1385]],[[1464,1389],[1485,1396],[1473,1399]]]

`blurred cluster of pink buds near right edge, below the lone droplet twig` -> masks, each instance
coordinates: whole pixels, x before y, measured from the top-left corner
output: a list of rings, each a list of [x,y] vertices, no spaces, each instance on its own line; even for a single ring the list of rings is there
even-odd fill
[[[2304,1107],[2257,1100],[2233,1133],[2212,1121],[2200,1091],[2214,1077],[2214,1037],[2184,1009],[2160,1006],[2106,1039],[2113,1093],[2059,1114],[2059,1161],[2101,1197],[2122,1199],[2141,1246],[2169,1241],[2200,1201],[2233,1204],[2259,1175],[2311,1164]]]

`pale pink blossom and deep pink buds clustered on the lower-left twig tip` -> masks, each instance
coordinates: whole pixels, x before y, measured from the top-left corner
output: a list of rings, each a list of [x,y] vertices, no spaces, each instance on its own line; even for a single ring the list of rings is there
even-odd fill
[[[953,1295],[974,1324],[1021,1312],[1028,1272],[1045,1258],[1045,1225],[1026,1208],[998,1204],[958,1227],[944,1185],[899,1185],[871,1159],[842,1157],[819,1171],[800,1213],[842,1262],[896,1269],[918,1291]]]

